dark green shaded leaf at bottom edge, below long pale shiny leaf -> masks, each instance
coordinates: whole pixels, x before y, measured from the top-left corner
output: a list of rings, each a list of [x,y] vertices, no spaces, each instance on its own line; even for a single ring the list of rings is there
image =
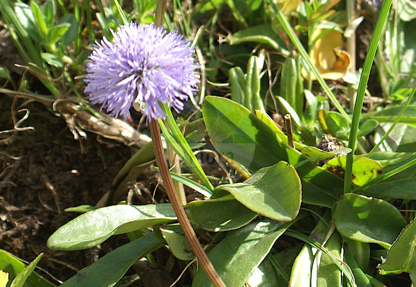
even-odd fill
[[[163,246],[154,233],[122,245],[79,271],[60,287],[114,286],[134,262]]]

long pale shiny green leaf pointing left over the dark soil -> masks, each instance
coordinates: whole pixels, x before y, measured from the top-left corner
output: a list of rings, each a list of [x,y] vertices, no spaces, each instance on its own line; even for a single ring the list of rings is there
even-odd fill
[[[112,205],[89,211],[61,226],[47,241],[50,249],[81,250],[127,233],[176,220],[170,203]]]

